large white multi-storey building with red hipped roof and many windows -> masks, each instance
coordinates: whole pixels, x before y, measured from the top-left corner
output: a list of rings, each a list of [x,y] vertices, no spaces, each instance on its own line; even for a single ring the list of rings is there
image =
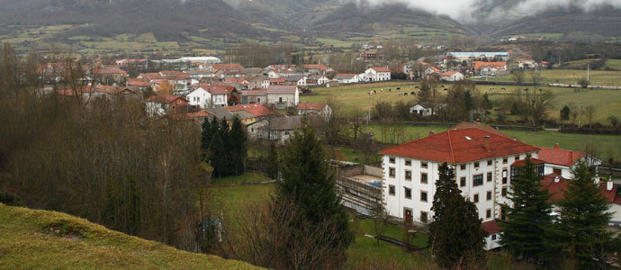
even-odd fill
[[[486,249],[500,247],[500,203],[509,203],[510,166],[540,149],[483,125],[458,126],[380,151],[386,211],[404,222],[427,223],[436,193],[438,168],[447,163],[464,197],[476,204],[490,235]]]

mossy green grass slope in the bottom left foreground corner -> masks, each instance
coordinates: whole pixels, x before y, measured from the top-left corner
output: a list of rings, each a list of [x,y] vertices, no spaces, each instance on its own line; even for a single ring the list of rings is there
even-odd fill
[[[168,247],[56,211],[0,203],[0,269],[256,269]]]

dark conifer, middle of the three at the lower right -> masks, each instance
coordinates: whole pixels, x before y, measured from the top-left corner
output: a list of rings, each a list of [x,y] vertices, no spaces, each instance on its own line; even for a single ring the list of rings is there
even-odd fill
[[[512,192],[508,192],[513,206],[501,205],[508,221],[501,222],[501,243],[517,257],[526,260],[545,260],[554,254],[552,204],[550,194],[541,189],[541,176],[527,157],[525,166],[514,167],[520,173],[511,179]]]

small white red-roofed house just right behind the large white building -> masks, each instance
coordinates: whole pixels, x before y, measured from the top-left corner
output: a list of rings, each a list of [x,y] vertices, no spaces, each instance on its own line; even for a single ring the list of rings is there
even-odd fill
[[[559,175],[565,179],[573,179],[572,169],[581,161],[587,166],[598,166],[602,162],[584,152],[565,150],[556,144],[554,148],[541,148],[539,159],[545,161],[545,175]]]

